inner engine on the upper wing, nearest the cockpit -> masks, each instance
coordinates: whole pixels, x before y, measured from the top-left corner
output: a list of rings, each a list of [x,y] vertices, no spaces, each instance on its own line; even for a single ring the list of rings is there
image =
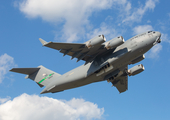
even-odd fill
[[[105,48],[106,48],[107,50],[113,49],[113,48],[115,48],[115,47],[123,44],[124,42],[125,42],[125,41],[124,41],[123,37],[122,37],[122,36],[119,36],[119,37],[113,38],[113,39],[111,39],[110,41],[106,42],[106,43],[105,43]]]

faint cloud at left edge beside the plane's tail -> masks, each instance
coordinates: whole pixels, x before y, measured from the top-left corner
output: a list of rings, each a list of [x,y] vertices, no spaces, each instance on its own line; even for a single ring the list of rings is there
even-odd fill
[[[6,53],[0,56],[0,83],[4,79],[5,74],[7,74],[13,66],[15,66],[13,57],[7,55]]]

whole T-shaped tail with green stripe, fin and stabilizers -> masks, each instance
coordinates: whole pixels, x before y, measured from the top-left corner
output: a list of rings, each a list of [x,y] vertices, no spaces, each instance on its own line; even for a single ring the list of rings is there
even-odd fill
[[[13,68],[10,71],[26,74],[25,77],[30,78],[31,80],[35,81],[40,87],[47,86],[50,82],[53,76],[59,77],[60,74],[49,70],[45,67],[38,66],[37,68]]]

